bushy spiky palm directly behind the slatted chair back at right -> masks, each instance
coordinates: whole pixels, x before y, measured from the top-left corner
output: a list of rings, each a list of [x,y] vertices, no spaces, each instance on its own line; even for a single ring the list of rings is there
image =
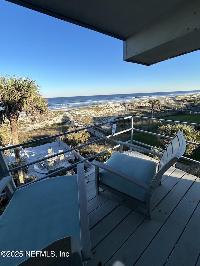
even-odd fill
[[[158,128],[158,134],[174,137],[179,131],[183,133],[183,136],[186,141],[196,142],[199,143],[200,141],[200,132],[195,129],[192,125],[184,125],[184,124],[166,124],[162,125]],[[158,140],[164,144],[165,146],[168,145],[170,139],[158,137]],[[193,144],[186,144],[186,155],[192,155],[193,150],[197,148],[197,145]]]

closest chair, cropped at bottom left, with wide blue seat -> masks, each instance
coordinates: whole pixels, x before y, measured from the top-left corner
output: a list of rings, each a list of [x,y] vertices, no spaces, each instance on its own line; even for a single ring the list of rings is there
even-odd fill
[[[83,163],[78,174],[45,178],[17,188],[0,217],[0,265],[83,265],[91,259]],[[9,194],[9,193],[8,193]],[[10,196],[11,197],[11,196]]]

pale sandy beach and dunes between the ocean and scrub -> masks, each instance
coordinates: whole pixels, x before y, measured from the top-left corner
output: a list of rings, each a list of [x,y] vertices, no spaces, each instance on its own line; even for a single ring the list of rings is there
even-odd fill
[[[176,100],[187,97],[188,101],[200,99],[200,94],[182,95],[171,98],[160,98],[161,103],[177,104]],[[137,106],[149,106],[148,100],[133,101]],[[164,105],[164,104],[163,104]],[[181,105],[181,103],[180,103]],[[161,104],[162,106],[162,104]],[[113,120],[121,115],[132,115],[133,110],[127,108],[124,103],[102,104],[80,109],[63,109],[59,111],[50,111],[49,118],[40,118],[38,123],[32,124],[31,120],[22,114],[18,120],[19,132],[34,130],[37,128],[52,126],[57,123],[66,123],[69,120],[77,119],[91,124],[101,123]]]

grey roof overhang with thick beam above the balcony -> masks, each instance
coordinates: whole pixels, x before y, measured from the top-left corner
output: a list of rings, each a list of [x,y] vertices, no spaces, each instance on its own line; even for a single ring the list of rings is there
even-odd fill
[[[123,60],[152,65],[200,49],[199,0],[8,0],[124,41]]]

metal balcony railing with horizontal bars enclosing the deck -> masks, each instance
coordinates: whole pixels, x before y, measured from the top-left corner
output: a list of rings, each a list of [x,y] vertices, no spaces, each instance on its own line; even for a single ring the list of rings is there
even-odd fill
[[[186,122],[179,122],[179,121],[172,121],[172,120],[165,120],[165,119],[157,119],[157,118],[147,118],[147,117],[140,117],[140,116],[128,116],[128,117],[124,117],[124,118],[114,119],[114,120],[109,121],[109,122],[99,123],[99,124],[96,124],[96,125],[84,126],[84,128],[78,128],[78,129],[73,130],[73,131],[70,131],[70,132],[60,133],[60,134],[57,134],[57,135],[54,135],[54,136],[49,136],[49,137],[45,137],[45,138],[40,138],[40,139],[37,139],[37,140],[32,140],[32,141],[29,141],[29,142],[20,143],[20,144],[17,144],[17,145],[13,145],[13,146],[10,146],[10,147],[6,147],[6,148],[2,148],[2,149],[0,149],[0,179],[2,179],[2,178],[5,177],[5,176],[9,176],[9,175],[11,175],[11,172],[13,172],[13,171],[16,171],[16,170],[18,170],[18,169],[20,169],[20,168],[23,168],[23,167],[26,167],[26,166],[30,166],[30,165],[35,164],[35,163],[37,163],[37,162],[42,162],[42,161],[44,160],[43,158],[41,158],[41,159],[36,160],[36,161],[34,161],[34,162],[28,162],[28,163],[26,163],[26,164],[23,164],[23,165],[20,165],[20,166],[14,167],[14,168],[12,168],[12,169],[9,169],[8,164],[7,164],[7,161],[6,161],[6,159],[5,159],[4,155],[3,155],[3,151],[9,150],[9,149],[11,149],[11,148],[16,148],[16,147],[26,146],[26,145],[28,145],[28,144],[30,145],[30,144],[33,144],[33,143],[40,143],[41,141],[44,141],[44,140],[50,140],[50,139],[52,139],[52,138],[56,138],[56,137],[61,137],[61,136],[64,136],[64,135],[67,135],[67,134],[70,134],[70,133],[73,133],[73,132],[78,132],[78,131],[82,131],[82,130],[89,130],[89,129],[94,128],[94,127],[95,127],[95,128],[97,128],[97,127],[99,128],[99,127],[101,127],[101,126],[103,126],[103,125],[106,125],[106,124],[108,124],[108,123],[109,123],[109,124],[111,124],[111,123],[115,124],[115,123],[117,123],[117,122],[119,122],[119,121],[123,121],[123,120],[127,120],[127,119],[130,120],[130,127],[129,127],[129,128],[124,129],[124,130],[121,130],[121,131],[116,132],[116,133],[113,133],[113,134],[110,134],[110,135],[108,135],[108,136],[103,135],[102,138],[99,138],[99,139],[96,139],[96,140],[94,140],[94,141],[91,141],[91,142],[85,143],[85,144],[80,145],[80,146],[77,146],[77,147],[75,147],[75,148],[71,148],[71,149],[69,149],[69,150],[67,150],[67,151],[62,151],[62,152],[60,152],[60,153],[56,153],[56,155],[60,155],[60,154],[66,153],[66,152],[74,151],[74,150],[76,150],[76,149],[79,149],[79,148],[82,148],[82,147],[88,146],[89,144],[97,143],[98,141],[101,141],[101,140],[103,140],[103,139],[104,139],[104,140],[109,139],[109,138],[112,138],[112,139],[113,139],[113,137],[115,137],[115,136],[121,135],[121,134],[123,134],[123,133],[130,132],[130,139],[129,139],[128,141],[126,141],[126,142],[128,142],[128,143],[136,143],[136,144],[139,144],[139,145],[146,146],[147,148],[146,148],[146,149],[143,148],[143,150],[145,150],[145,151],[148,152],[148,153],[152,153],[152,154],[156,154],[156,155],[158,155],[158,156],[161,156],[159,153],[154,152],[154,151],[152,151],[152,150],[149,149],[149,148],[153,148],[153,149],[157,149],[157,150],[163,151],[162,149],[157,148],[157,147],[153,147],[153,146],[151,146],[151,145],[149,145],[149,144],[141,143],[141,142],[139,142],[139,141],[134,140],[134,132],[147,133],[147,134],[151,134],[151,135],[154,135],[154,136],[160,136],[160,137],[162,137],[162,138],[164,137],[164,138],[169,138],[169,139],[171,139],[172,137],[164,136],[164,135],[160,135],[160,134],[157,134],[157,133],[153,133],[153,132],[149,132],[149,131],[145,131],[145,130],[141,130],[141,129],[134,128],[134,121],[135,121],[135,119],[142,119],[142,120],[145,120],[145,119],[146,119],[146,120],[161,121],[161,122],[168,122],[168,123],[187,124],[187,125],[194,125],[194,126],[200,127],[200,124],[197,124],[197,123],[186,123]],[[194,143],[194,142],[190,142],[190,141],[186,141],[186,143],[189,143],[189,144],[192,144],[192,145],[196,145],[196,146],[200,146],[200,143]],[[93,159],[93,158],[97,157],[98,155],[101,155],[101,154],[105,153],[105,152],[108,152],[108,151],[110,151],[110,150],[117,149],[119,146],[120,146],[120,145],[117,144],[117,141],[116,141],[116,145],[114,145],[113,147],[108,148],[108,149],[106,149],[106,150],[104,150],[104,151],[102,151],[102,152],[99,152],[98,154],[95,154],[95,155],[93,155],[93,156],[87,157],[87,158],[85,158],[85,159],[83,159],[83,160],[81,160],[81,161],[79,161],[79,162],[85,162],[85,161],[88,161],[88,160],[90,160],[90,159]],[[138,149],[140,149],[140,146],[138,146]],[[52,154],[51,156],[49,156],[49,158],[54,157],[54,156],[55,156],[55,154]],[[192,162],[192,163],[198,163],[198,164],[200,164],[199,161],[193,160],[193,159],[188,158],[188,157],[184,157],[184,156],[182,156],[181,158],[183,158],[183,159],[185,159],[185,160],[188,160],[188,161],[190,161],[190,162]],[[76,166],[76,164],[77,164],[77,163],[73,163],[73,164],[71,164],[71,165],[68,166],[68,167],[64,167],[64,168],[62,168],[62,169],[59,169],[59,170],[57,170],[57,171],[55,171],[55,172],[52,172],[52,173],[50,173],[50,174],[45,175],[45,177],[38,178],[37,180],[31,181],[31,182],[37,182],[38,180],[44,179],[44,178],[46,178],[46,177],[53,176],[53,175],[55,175],[55,174],[57,174],[57,173],[59,173],[59,172],[61,172],[61,171],[63,171],[63,170],[67,170],[68,168],[71,168],[71,167],[73,167],[73,166]],[[31,182],[29,182],[29,183],[27,183],[27,184],[30,184]],[[22,186],[26,186],[27,184],[22,185]],[[11,185],[12,185],[13,187],[15,187],[14,182],[13,182],[13,184],[11,184]],[[15,188],[15,189],[16,189],[16,188]],[[3,195],[5,195],[5,194],[6,194],[6,193],[1,194],[0,197],[3,196]]]

